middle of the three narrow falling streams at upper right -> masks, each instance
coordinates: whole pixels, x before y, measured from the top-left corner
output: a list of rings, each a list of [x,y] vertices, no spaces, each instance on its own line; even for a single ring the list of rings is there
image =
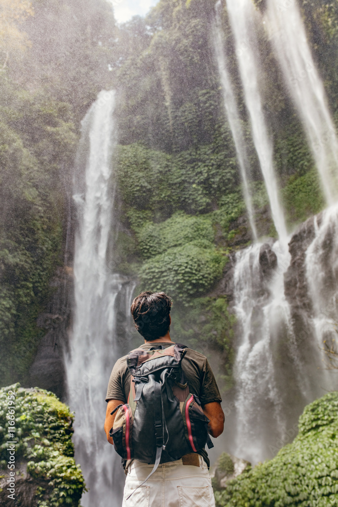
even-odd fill
[[[255,10],[251,0],[227,0],[230,23],[235,36],[236,53],[249,112],[253,142],[265,180],[272,218],[281,241],[286,244],[284,213],[279,200],[273,163],[273,148],[262,110],[258,83],[258,57],[255,53]]]

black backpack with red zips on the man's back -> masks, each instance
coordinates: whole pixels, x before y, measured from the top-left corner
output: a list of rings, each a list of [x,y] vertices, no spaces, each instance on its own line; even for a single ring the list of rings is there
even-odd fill
[[[135,349],[127,355],[131,374],[128,403],[119,405],[110,436],[124,460],[154,464],[180,459],[213,447],[209,419],[184,379],[181,361],[186,346]],[[145,482],[145,481],[144,481]]]

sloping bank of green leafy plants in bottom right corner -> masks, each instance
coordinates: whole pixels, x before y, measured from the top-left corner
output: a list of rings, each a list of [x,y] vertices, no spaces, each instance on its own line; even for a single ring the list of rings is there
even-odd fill
[[[277,456],[215,492],[217,507],[324,507],[338,494],[338,392],[308,405],[299,433]]]

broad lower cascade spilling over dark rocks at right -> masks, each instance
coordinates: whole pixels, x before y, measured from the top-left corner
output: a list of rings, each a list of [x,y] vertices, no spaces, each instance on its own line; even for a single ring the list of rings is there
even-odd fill
[[[302,224],[289,249],[276,241],[236,254],[231,450],[252,463],[290,442],[304,406],[337,386],[323,349],[337,350],[338,204]]]

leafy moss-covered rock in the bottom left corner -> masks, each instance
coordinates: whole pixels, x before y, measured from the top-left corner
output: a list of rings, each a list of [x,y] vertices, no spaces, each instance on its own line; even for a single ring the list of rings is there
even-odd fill
[[[0,406],[1,505],[13,505],[15,490],[19,506],[78,507],[85,482],[69,408],[52,392],[18,383],[0,389]]]

